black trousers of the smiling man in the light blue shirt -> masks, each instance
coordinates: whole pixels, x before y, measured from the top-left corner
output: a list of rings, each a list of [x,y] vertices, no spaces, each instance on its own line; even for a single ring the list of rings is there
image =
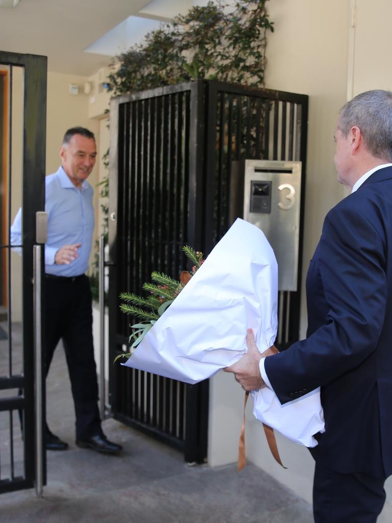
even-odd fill
[[[101,434],[93,346],[93,312],[87,276],[45,277],[45,376],[63,340],[76,414],[76,439]]]

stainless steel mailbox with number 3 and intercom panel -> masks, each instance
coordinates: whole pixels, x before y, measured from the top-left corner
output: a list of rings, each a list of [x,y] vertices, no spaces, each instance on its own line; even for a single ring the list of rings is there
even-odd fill
[[[296,291],[301,162],[233,162],[230,219],[241,217],[266,235],[278,261],[279,290]]]

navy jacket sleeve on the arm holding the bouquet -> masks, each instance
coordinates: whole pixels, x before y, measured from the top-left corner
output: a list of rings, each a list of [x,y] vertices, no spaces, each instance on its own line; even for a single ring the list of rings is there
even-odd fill
[[[323,320],[307,339],[265,361],[281,403],[331,382],[376,349],[385,315],[385,267],[382,234],[346,198],[328,213],[308,271],[308,311],[321,311]]]

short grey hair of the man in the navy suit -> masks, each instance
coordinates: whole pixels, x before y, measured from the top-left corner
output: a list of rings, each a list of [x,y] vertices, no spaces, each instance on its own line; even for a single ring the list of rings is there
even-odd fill
[[[392,161],[392,92],[375,89],[347,102],[340,111],[338,129],[345,138],[353,126],[361,129],[373,156]]]

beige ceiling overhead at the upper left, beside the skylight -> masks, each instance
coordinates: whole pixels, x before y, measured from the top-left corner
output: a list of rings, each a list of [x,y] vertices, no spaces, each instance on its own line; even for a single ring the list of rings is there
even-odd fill
[[[190,0],[20,0],[15,8],[0,8],[0,50],[48,56],[48,71],[90,76],[109,64],[110,52],[86,48],[103,53],[93,44],[120,22],[141,16],[146,6],[143,16],[167,19],[162,5],[177,8],[179,2],[186,9],[192,5]]]

